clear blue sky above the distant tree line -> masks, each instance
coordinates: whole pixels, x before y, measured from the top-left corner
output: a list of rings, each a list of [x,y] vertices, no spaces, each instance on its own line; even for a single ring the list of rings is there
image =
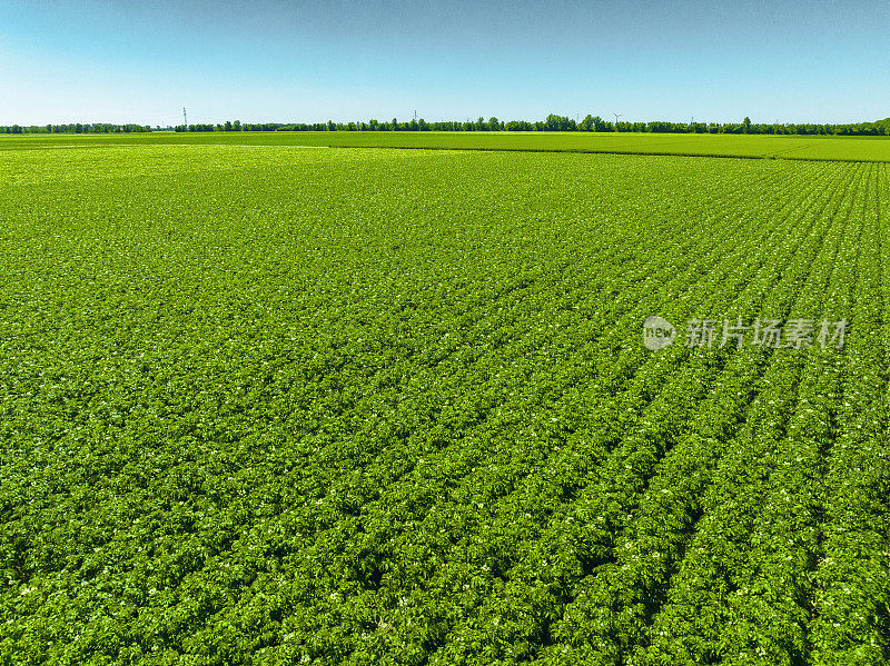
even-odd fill
[[[0,125],[890,116],[890,3],[11,0]]]

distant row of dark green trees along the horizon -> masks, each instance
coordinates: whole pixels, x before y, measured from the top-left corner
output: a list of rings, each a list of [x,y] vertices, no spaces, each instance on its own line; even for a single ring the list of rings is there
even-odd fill
[[[653,132],[653,133],[710,133],[710,135],[835,135],[857,137],[890,136],[890,118],[876,122],[857,122],[851,125],[827,123],[760,123],[751,122],[745,118],[742,122],[671,122],[653,120],[649,122],[632,122],[603,120],[599,116],[587,115],[583,120],[576,121],[565,116],[551,113],[546,120],[498,120],[497,118],[478,118],[477,120],[444,120],[427,122],[419,120],[390,121],[368,120],[355,122],[260,122],[241,123],[240,120],[228,120],[216,125],[179,125],[176,127],[150,127],[142,125],[111,125],[98,122],[92,125],[44,125],[20,127],[0,126],[0,133],[7,135],[38,135],[38,133],[66,133],[66,135],[96,135],[96,133],[127,133],[149,131],[177,131],[177,132],[257,132],[257,131],[508,131],[508,132]]]

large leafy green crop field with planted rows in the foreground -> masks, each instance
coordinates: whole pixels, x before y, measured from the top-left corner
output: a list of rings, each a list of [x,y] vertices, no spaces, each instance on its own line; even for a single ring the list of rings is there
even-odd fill
[[[0,150],[0,663],[890,662],[887,165],[77,140]]]

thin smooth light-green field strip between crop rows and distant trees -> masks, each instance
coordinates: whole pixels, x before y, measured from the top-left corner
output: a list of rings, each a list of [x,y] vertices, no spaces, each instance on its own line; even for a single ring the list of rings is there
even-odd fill
[[[589,132],[209,132],[0,137],[0,150],[146,145],[324,146],[890,161],[890,138]]]

